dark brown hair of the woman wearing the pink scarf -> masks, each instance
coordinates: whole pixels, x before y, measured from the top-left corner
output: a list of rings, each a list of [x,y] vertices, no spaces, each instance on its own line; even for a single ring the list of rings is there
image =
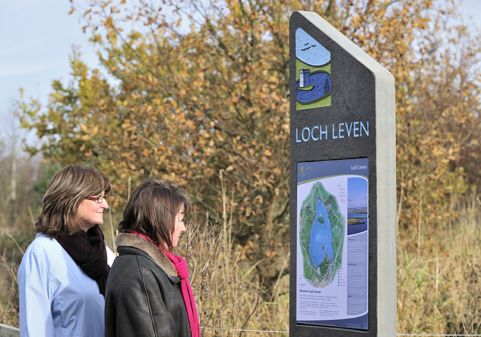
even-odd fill
[[[181,210],[187,213],[192,207],[190,198],[173,184],[147,179],[137,186],[127,202],[119,231],[138,232],[172,250],[175,215]]]

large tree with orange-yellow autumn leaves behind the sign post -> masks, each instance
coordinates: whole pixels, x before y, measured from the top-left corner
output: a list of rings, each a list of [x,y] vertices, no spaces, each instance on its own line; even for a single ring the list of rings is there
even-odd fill
[[[401,228],[443,216],[437,205],[480,162],[479,50],[443,23],[450,1],[125,2],[73,2],[102,66],[74,54],[46,108],[21,102],[23,125],[46,157],[104,169],[118,206],[128,181],[177,181],[229,226],[241,258],[262,271],[275,247],[270,283],[288,261],[292,11],[319,13],[394,74]]]

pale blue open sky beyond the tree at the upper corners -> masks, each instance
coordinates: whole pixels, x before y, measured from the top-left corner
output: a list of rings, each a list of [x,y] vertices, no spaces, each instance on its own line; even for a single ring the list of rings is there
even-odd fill
[[[481,0],[461,1],[461,12],[481,28]],[[68,83],[72,46],[80,48],[87,65],[98,65],[79,14],[69,11],[69,0],[0,0],[0,132],[20,87],[26,98],[46,103],[53,80]]]

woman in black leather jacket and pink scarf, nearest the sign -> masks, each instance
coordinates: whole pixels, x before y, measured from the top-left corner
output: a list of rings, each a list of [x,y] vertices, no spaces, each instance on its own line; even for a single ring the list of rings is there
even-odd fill
[[[154,179],[132,193],[107,279],[106,337],[200,336],[187,265],[172,253],[190,208],[186,194]]]

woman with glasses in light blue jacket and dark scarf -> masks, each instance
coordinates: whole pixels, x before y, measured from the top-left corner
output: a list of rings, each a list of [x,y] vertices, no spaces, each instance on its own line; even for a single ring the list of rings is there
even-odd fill
[[[110,179],[69,165],[42,199],[37,236],[18,268],[20,336],[104,336],[105,283],[115,254],[99,228]]]

